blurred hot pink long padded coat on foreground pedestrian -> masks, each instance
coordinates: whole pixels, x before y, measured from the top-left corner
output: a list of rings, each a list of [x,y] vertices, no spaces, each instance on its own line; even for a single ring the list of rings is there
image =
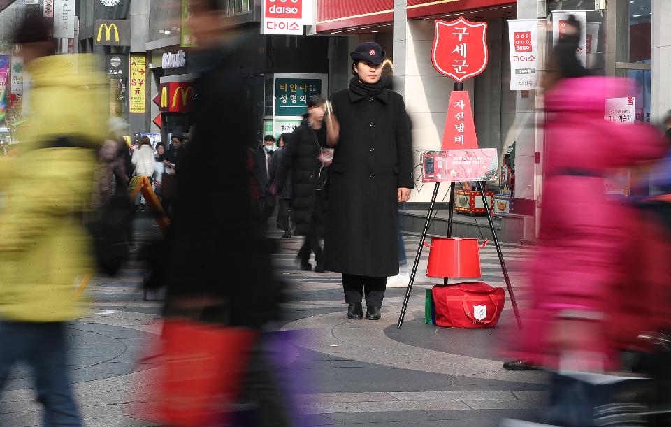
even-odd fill
[[[612,319],[621,298],[618,284],[628,273],[637,212],[607,200],[603,175],[665,152],[661,134],[651,126],[604,120],[605,99],[633,93],[628,85],[618,78],[565,79],[546,94],[542,244],[531,264],[533,302],[523,310],[525,328],[514,352],[540,366],[557,366],[559,351],[548,338],[560,310],[602,316],[603,333],[585,350],[614,361]]]

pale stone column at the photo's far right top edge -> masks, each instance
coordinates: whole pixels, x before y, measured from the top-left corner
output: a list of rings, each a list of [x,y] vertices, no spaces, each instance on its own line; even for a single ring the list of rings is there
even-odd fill
[[[671,110],[671,1],[652,0],[651,120],[663,120]]]

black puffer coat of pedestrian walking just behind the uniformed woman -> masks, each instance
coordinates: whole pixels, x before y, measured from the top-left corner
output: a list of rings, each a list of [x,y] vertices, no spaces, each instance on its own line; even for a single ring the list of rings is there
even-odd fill
[[[324,205],[326,197],[317,198],[315,194],[317,187],[324,187],[328,177],[328,171],[322,168],[322,162],[319,161],[319,154],[324,148],[322,144],[326,145],[326,126],[319,129],[317,135],[308,120],[303,120],[301,126],[298,126],[291,135],[291,143],[284,149],[284,161],[280,167],[280,183],[284,182],[289,173],[293,174],[291,210],[294,212],[294,224],[298,236],[308,234],[310,219],[315,208],[326,209]],[[322,144],[319,143],[320,139],[323,141]],[[317,233],[321,236],[324,231]]]

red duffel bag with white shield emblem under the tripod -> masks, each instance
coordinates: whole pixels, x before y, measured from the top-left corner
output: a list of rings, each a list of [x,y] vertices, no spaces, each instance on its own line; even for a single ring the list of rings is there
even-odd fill
[[[483,282],[433,287],[435,324],[445,328],[493,328],[503,311],[505,292]]]

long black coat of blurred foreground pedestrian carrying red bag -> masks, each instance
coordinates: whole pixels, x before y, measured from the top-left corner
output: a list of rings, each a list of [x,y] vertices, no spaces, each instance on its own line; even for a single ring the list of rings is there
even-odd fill
[[[240,67],[230,55],[203,55],[210,68],[194,82],[194,133],[180,150],[168,231],[168,301],[215,296],[227,302],[229,324],[261,326],[277,315],[281,287],[250,200],[247,141],[254,138],[252,111],[222,103],[245,99]],[[222,129],[230,129],[223,139]]]

